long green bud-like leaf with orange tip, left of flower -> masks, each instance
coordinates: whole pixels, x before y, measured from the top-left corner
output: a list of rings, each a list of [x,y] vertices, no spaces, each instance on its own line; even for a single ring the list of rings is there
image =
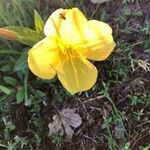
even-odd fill
[[[33,46],[43,38],[35,30],[21,26],[0,28],[0,36],[10,40],[16,40],[28,46]]]

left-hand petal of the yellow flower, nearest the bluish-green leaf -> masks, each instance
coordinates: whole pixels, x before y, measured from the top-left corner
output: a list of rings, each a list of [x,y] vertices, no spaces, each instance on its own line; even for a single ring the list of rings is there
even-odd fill
[[[28,53],[28,66],[36,76],[43,79],[52,79],[56,74],[59,63],[56,41],[54,38],[45,38],[37,43]]]

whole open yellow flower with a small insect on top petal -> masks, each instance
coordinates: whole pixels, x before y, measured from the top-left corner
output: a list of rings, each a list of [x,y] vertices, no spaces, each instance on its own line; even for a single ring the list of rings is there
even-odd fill
[[[78,8],[57,9],[48,18],[46,37],[29,51],[31,71],[43,79],[57,74],[72,94],[90,89],[98,71],[88,61],[106,59],[115,47],[111,27],[97,20],[87,20]]]

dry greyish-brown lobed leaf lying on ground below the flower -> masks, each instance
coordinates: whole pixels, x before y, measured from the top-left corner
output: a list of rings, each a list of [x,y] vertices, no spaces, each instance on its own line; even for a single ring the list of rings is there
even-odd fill
[[[48,125],[49,136],[53,133],[59,133],[61,136],[66,134],[68,140],[72,139],[74,131],[72,127],[77,128],[82,124],[81,117],[75,113],[75,109],[66,108],[53,117],[53,123]]]

